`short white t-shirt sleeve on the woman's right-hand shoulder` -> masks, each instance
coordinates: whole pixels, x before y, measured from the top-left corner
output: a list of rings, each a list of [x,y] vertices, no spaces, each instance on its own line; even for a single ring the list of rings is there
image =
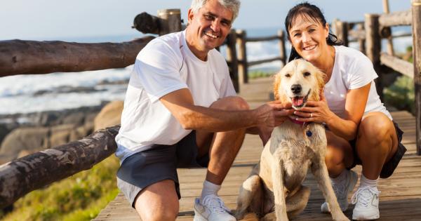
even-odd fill
[[[348,71],[347,81],[349,90],[366,86],[377,78],[373,63],[362,53],[354,60]]]

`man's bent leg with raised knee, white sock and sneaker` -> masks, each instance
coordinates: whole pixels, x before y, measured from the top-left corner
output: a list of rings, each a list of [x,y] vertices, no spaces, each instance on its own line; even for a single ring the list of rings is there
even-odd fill
[[[224,110],[249,109],[247,102],[239,97],[222,98],[210,107]],[[194,220],[235,220],[226,212],[224,204],[218,197],[218,191],[243,144],[245,134],[246,128],[218,133],[196,131],[198,155],[200,157],[208,153],[210,161],[201,198],[195,202]]]

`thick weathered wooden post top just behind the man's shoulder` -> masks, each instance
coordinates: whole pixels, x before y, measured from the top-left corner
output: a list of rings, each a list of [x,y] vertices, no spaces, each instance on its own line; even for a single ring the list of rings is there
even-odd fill
[[[158,10],[159,35],[181,31],[180,9],[161,9]]]

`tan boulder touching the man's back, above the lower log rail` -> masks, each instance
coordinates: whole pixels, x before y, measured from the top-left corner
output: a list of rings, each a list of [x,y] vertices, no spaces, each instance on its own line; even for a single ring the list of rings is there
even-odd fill
[[[103,107],[94,120],[94,131],[120,124],[123,101],[115,100]]]

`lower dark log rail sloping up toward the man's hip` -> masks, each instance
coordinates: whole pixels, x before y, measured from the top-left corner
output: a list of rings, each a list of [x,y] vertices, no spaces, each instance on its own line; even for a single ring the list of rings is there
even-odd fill
[[[86,138],[15,159],[0,166],[0,208],[20,197],[88,170],[116,151],[120,126],[98,130]]]

